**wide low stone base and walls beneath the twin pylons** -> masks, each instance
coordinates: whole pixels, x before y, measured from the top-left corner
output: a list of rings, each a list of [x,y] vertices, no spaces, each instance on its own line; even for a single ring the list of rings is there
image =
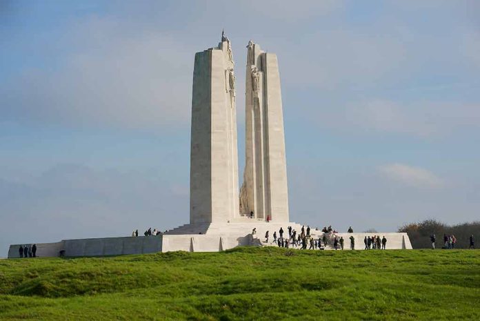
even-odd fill
[[[170,251],[218,252],[237,246],[277,246],[272,242],[274,231],[277,231],[277,237],[279,237],[279,230],[283,228],[283,237],[288,238],[288,226],[292,226],[292,229],[297,231],[297,235],[301,233],[302,225],[295,222],[267,223],[263,220],[240,217],[237,222],[230,223],[186,224],[156,236],[106,237],[37,243],[37,256],[56,257],[60,256],[61,251],[66,257],[82,257]],[[252,233],[254,228],[256,233]],[[305,228],[307,228],[306,225]],[[268,242],[265,237],[267,231]],[[312,228],[310,235],[318,240],[323,233]],[[355,239],[355,249],[363,250],[365,249],[363,238],[372,235],[385,236],[386,248],[389,250],[412,249],[407,233],[335,233],[335,235],[343,237],[346,250],[350,249],[350,236]],[[9,258],[19,257],[19,246],[20,244],[10,245]],[[332,249],[332,246],[328,245],[326,249]]]

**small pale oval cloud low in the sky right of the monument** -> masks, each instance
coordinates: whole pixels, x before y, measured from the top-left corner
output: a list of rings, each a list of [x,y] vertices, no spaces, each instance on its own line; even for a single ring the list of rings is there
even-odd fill
[[[441,188],[445,182],[425,168],[406,164],[387,164],[379,167],[380,173],[395,182],[416,188]]]

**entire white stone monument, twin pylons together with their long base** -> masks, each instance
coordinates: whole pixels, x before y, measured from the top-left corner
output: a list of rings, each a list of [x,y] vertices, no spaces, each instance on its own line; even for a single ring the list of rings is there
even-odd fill
[[[123,255],[168,251],[223,251],[239,245],[274,245],[274,231],[289,222],[280,76],[277,56],[250,41],[246,77],[246,166],[239,197],[237,110],[232,46],[222,32],[219,46],[197,52],[192,88],[190,224],[157,236],[61,240],[37,244],[39,256]],[[254,214],[250,218],[250,213]],[[268,220],[268,217],[270,220]],[[306,226],[305,226],[306,227]],[[254,233],[256,231],[256,233]],[[321,237],[321,231],[310,231]],[[386,235],[388,249],[412,249],[407,233]],[[370,233],[331,237],[361,240]],[[12,244],[8,257],[19,257]]]

